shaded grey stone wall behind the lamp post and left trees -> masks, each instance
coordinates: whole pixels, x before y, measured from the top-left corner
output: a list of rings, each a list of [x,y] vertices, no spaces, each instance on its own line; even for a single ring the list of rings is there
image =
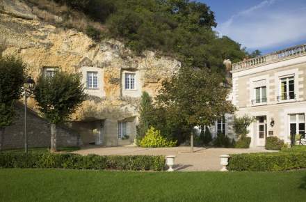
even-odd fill
[[[49,147],[50,125],[35,112],[28,109],[28,143],[29,147]],[[57,129],[58,146],[80,146],[81,139],[77,132],[61,125]],[[3,135],[3,149],[24,148],[24,105],[17,104],[14,123],[6,127]]]

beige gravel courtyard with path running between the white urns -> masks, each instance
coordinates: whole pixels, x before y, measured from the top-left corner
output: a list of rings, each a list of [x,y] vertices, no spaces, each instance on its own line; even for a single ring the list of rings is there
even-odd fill
[[[176,171],[219,171],[220,155],[234,153],[258,153],[271,152],[264,148],[236,149],[236,148],[200,148],[195,147],[194,153],[190,153],[187,146],[175,148],[139,148],[139,147],[86,147],[74,153],[81,155],[175,155]]]

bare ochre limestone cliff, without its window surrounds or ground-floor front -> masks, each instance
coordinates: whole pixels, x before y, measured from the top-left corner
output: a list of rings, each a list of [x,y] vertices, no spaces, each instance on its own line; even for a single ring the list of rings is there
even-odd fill
[[[0,42],[3,55],[20,56],[34,79],[43,67],[56,66],[67,72],[81,72],[83,66],[104,69],[105,96],[86,100],[72,116],[79,121],[137,116],[139,98],[122,96],[122,70],[141,70],[141,90],[155,95],[162,79],[177,72],[180,65],[154,52],[136,56],[118,40],[95,42],[79,31],[47,24],[17,0],[0,0]],[[34,103],[31,106],[35,109]]]

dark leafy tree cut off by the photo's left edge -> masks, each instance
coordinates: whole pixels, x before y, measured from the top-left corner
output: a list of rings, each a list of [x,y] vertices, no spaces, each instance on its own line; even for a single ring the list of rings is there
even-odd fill
[[[0,56],[0,150],[4,130],[13,122],[15,101],[22,95],[25,68],[14,56]]]

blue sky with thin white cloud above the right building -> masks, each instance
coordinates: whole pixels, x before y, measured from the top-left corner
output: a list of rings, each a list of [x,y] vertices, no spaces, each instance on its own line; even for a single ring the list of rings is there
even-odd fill
[[[220,36],[263,54],[306,43],[306,0],[200,0],[214,11]]]

